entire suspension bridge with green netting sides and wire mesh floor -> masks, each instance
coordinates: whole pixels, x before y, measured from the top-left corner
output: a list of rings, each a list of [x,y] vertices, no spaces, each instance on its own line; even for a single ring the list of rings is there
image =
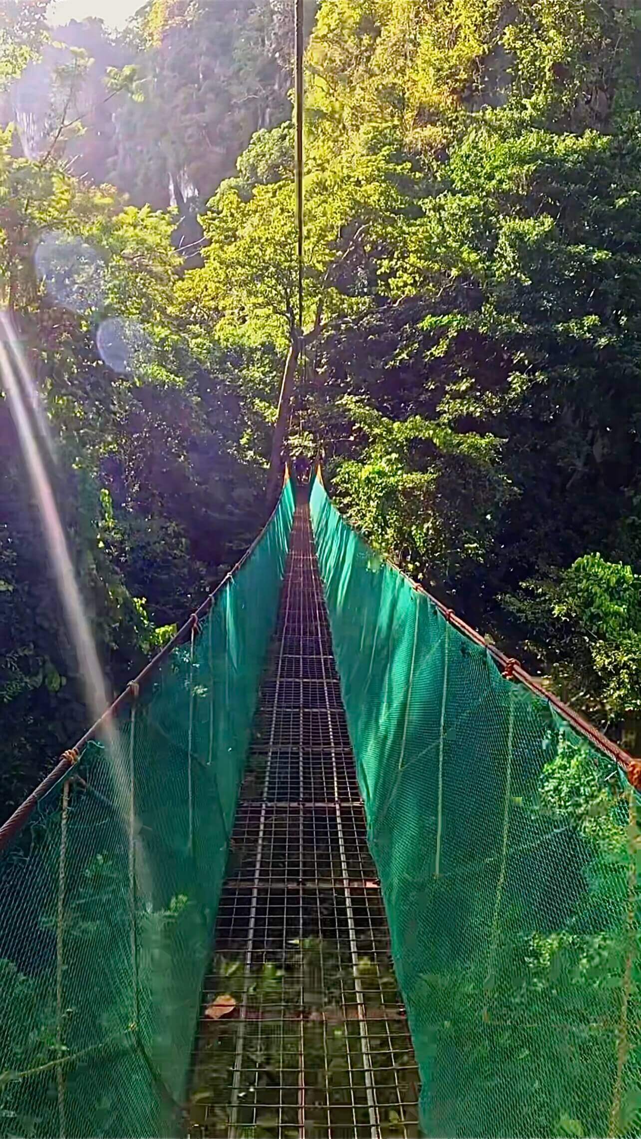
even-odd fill
[[[634,761],[296,498],[0,828],[0,1133],[638,1134]]]

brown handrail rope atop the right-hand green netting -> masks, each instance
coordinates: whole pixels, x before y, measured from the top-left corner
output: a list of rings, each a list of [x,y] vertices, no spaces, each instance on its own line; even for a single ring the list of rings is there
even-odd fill
[[[327,490],[322,480],[320,462],[318,464],[317,467],[317,477],[327,494]],[[331,502],[329,494],[328,499]],[[334,506],[334,502],[331,505]],[[340,514],[340,511],[337,509],[336,506],[334,506],[334,509],[337,510],[337,514],[339,514],[340,517],[343,518],[343,515]],[[350,526],[351,530],[354,531],[355,534],[359,535],[359,538],[365,543],[365,546],[368,546],[371,549],[364,535],[355,526],[352,526],[351,523],[346,522],[345,518],[343,518],[343,521],[345,522],[346,525]],[[457,616],[457,614],[452,608],[450,608],[446,605],[443,605],[443,603],[439,601],[436,597],[434,597],[433,593],[429,593],[428,590],[424,589],[422,585],[419,585],[418,581],[414,581],[413,577],[410,577],[410,575],[406,574],[404,570],[401,570],[400,566],[395,565],[391,558],[383,556],[383,560],[388,566],[391,566],[392,570],[395,570],[396,573],[401,574],[401,576],[404,577],[405,581],[410,583],[412,589],[414,589],[418,593],[422,593],[424,597],[427,597],[428,600],[432,601],[434,606],[436,606],[436,608],[438,609],[441,615],[445,618],[445,621],[447,621],[454,629],[457,629],[460,633],[467,637],[468,640],[474,641],[475,645],[478,645],[480,648],[486,649],[487,653],[493,657],[494,662],[501,666],[501,674],[507,680],[520,681],[520,683],[525,688],[529,689],[529,691],[534,693],[536,696],[542,697],[544,700],[551,704],[552,707],[556,708],[557,712],[559,712],[562,719],[568,721],[568,723],[575,729],[575,731],[580,732],[580,735],[582,736],[587,737],[587,739],[592,744],[594,744],[595,747],[598,747],[601,752],[606,752],[610,759],[614,759],[618,763],[618,765],[623,768],[625,775],[630,778],[631,782],[633,782],[633,786],[636,786],[635,782],[636,780],[640,785],[638,789],[641,789],[641,760],[634,759],[634,756],[630,755],[630,753],[626,752],[623,747],[619,747],[618,744],[615,744],[611,739],[608,739],[608,737],[605,736],[602,731],[599,731],[599,729],[595,728],[593,723],[590,723],[589,720],[585,720],[582,715],[578,714],[578,712],[575,712],[574,708],[569,707],[568,704],[564,704],[564,702],[559,699],[559,697],[556,696],[554,693],[550,693],[548,691],[548,689],[543,688],[543,686],[537,680],[535,680],[534,677],[532,677],[529,672],[527,672],[519,664],[518,661],[516,661],[513,657],[506,656],[506,654],[502,653],[500,648],[496,648],[495,645],[488,645],[487,641],[485,640],[485,637],[483,637],[483,634],[479,633],[477,629],[474,629],[471,625],[468,625],[468,623],[463,621],[462,617]]]

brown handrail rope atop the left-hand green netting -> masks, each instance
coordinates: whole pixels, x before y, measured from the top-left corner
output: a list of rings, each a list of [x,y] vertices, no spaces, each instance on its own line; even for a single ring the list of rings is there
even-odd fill
[[[282,480],[283,487],[287,485],[288,481],[289,481],[289,467],[286,464],[283,480]],[[279,506],[280,506],[280,495],[272,513],[270,514],[268,521],[265,522],[265,525],[263,526],[261,532],[256,535],[252,544],[245,550],[245,554],[243,555],[240,560],[236,563],[236,565],[229,571],[228,574],[225,574],[225,576],[216,585],[216,588],[212,590],[211,593],[207,595],[203,604],[196,609],[195,613],[192,613],[188,617],[188,620],[184,622],[183,625],[181,625],[178,632],[174,633],[171,640],[169,640],[167,644],[164,645],[163,648],[158,653],[156,653],[154,657],[151,657],[151,659],[138,673],[135,679],[129,681],[126,688],[124,688],[123,691],[118,696],[116,696],[115,700],[113,700],[113,703],[109,704],[109,707],[102,712],[102,715],[99,716],[98,720],[96,720],[96,722],[92,723],[91,728],[89,728],[88,731],[84,732],[84,736],[81,736],[81,738],[77,740],[76,744],[74,744],[73,747],[69,747],[67,748],[66,752],[63,752],[60,760],[58,761],[56,767],[49,772],[48,776],[44,777],[44,779],[41,780],[41,782],[38,784],[36,787],[34,787],[34,789],[31,792],[30,795],[27,795],[24,802],[20,803],[20,805],[16,808],[14,813],[10,814],[9,818],[2,823],[2,826],[0,827],[0,852],[3,851],[9,845],[9,843],[13,842],[16,835],[22,830],[25,822],[38,806],[39,802],[42,798],[44,798],[44,796],[56,786],[56,784],[58,784],[60,779],[63,779],[66,776],[69,768],[75,767],[75,764],[79,762],[81,757],[81,752],[87,746],[87,744],[89,744],[92,739],[96,739],[96,737],[100,735],[100,731],[106,727],[106,724],[110,720],[115,719],[115,716],[120,712],[122,712],[122,710],[125,707],[128,703],[135,702],[138,699],[140,689],[143,688],[149,680],[151,680],[151,678],[157,673],[161,665],[164,663],[167,656],[170,656],[170,654],[174,650],[174,648],[178,648],[179,645],[182,645],[184,641],[187,641],[191,637],[192,631],[195,632],[200,631],[202,618],[204,618],[209,613],[217,595],[221,592],[221,590],[224,589],[228,582],[233,580],[236,574],[243,568],[247,559],[252,556],[252,554],[256,549],[256,546],[266,533],[272,519],[277,514]]]

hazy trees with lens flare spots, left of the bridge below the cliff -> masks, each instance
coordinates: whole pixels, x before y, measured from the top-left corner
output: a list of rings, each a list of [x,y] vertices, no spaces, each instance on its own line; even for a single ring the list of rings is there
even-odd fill
[[[32,428],[99,656],[118,690],[255,532],[260,473],[243,457],[248,418],[231,362],[203,345],[176,305],[172,216],[79,182],[55,156],[36,163],[9,147],[3,137],[1,303],[34,385]],[[88,710],[5,399],[0,469],[0,765],[10,811],[82,734]]]

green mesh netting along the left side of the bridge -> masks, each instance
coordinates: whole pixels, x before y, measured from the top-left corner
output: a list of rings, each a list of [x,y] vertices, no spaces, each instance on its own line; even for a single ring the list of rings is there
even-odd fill
[[[0,860],[0,1134],[182,1131],[293,509]]]

